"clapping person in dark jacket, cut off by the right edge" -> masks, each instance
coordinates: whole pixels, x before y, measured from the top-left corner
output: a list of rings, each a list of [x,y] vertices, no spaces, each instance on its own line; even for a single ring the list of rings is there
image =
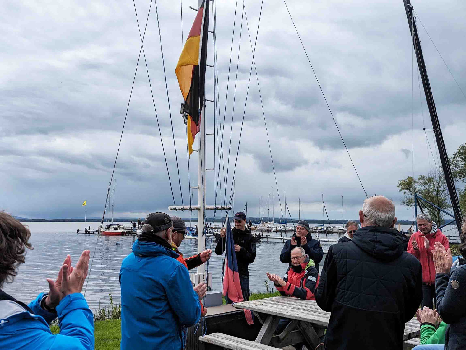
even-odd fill
[[[466,218],[461,228],[459,252],[466,258]],[[464,349],[466,344],[466,265],[452,269],[451,248],[445,249],[435,243],[432,253],[435,266],[435,294],[437,311],[442,320],[450,326],[445,333],[445,349]],[[464,260],[463,260],[464,261]],[[461,261],[460,261],[461,262]]]

